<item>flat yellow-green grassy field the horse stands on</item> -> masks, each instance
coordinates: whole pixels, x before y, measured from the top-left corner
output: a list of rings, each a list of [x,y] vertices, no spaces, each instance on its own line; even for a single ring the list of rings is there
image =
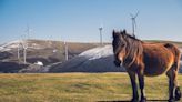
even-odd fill
[[[146,78],[149,100],[168,99],[165,75]],[[179,75],[182,86],[182,74]],[[0,74],[0,102],[129,101],[127,73]]]

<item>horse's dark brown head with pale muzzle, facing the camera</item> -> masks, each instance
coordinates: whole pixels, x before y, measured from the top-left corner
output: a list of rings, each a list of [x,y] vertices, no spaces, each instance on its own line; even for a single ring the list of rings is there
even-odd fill
[[[125,47],[127,47],[127,41],[124,40],[123,34],[125,33],[124,31],[115,32],[113,30],[112,35],[113,35],[113,41],[112,41],[112,47],[113,47],[113,53],[114,53],[114,64],[117,67],[120,67],[123,62],[123,58],[125,55]]]

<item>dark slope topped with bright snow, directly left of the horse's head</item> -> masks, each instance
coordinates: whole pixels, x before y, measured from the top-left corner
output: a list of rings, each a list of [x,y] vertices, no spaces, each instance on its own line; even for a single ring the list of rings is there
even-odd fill
[[[82,52],[74,59],[67,61],[50,72],[121,72],[123,68],[113,64],[113,52],[111,45],[99,47]]]

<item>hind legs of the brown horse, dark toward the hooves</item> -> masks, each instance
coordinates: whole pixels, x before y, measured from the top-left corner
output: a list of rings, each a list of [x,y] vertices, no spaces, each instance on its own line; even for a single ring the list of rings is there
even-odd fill
[[[173,102],[174,100],[179,100],[180,98],[176,99],[176,94],[174,98],[174,90],[175,88],[179,88],[178,84],[178,68],[179,65],[174,63],[174,65],[166,72],[166,75],[169,78],[169,102]]]

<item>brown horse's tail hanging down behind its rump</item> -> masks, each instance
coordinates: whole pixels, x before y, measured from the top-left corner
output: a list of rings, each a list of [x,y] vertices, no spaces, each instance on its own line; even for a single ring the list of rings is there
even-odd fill
[[[174,54],[174,64],[173,65],[176,65],[175,70],[179,71],[179,69],[180,69],[180,59],[181,59],[181,52],[180,52],[179,48],[174,44],[171,44],[171,43],[165,43],[164,47],[168,48],[169,50],[171,50],[172,53]]]

